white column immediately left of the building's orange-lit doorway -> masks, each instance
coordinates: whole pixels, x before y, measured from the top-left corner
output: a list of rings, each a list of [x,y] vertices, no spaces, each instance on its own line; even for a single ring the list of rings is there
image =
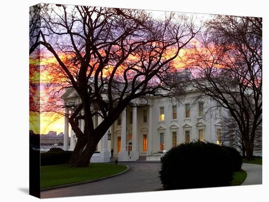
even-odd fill
[[[128,161],[128,151],[126,150],[126,109],[121,113],[121,150],[119,161]]]

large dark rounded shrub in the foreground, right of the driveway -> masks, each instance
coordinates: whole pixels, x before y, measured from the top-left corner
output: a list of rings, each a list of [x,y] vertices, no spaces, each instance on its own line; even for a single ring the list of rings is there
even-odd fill
[[[233,168],[221,146],[197,141],[169,150],[159,174],[164,189],[215,187],[230,184]]]

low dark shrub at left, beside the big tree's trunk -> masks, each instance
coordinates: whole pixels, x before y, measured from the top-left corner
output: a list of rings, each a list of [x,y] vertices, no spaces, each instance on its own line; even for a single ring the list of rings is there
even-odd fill
[[[57,148],[52,148],[57,149]],[[72,156],[72,151],[60,151],[60,150],[52,150],[48,152],[41,153],[41,165],[60,165],[66,164],[70,160]]]

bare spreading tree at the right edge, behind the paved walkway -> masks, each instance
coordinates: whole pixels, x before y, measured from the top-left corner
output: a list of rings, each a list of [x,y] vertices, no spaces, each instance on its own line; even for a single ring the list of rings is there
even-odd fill
[[[228,110],[253,156],[262,123],[262,19],[217,16],[189,55],[193,85]]]

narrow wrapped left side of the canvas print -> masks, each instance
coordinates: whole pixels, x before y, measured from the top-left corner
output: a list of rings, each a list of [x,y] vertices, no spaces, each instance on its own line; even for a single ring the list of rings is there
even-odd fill
[[[40,198],[40,6],[29,10],[29,194]]]

